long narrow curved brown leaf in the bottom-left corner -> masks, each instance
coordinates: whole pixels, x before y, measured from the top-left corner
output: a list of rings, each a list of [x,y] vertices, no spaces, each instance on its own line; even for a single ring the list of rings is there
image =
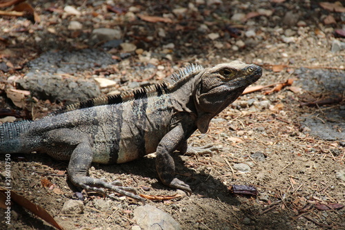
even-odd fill
[[[6,195],[6,191],[8,191],[8,189],[0,187],[0,193]],[[16,202],[17,204],[21,205],[21,207],[28,209],[28,211],[31,211],[32,213],[34,213],[34,215],[37,215],[39,218],[42,218],[49,224],[52,224],[52,226],[56,227],[57,229],[63,230],[63,228],[54,220],[54,218],[52,218],[52,216],[45,209],[42,209],[39,205],[32,203],[30,200],[24,198],[22,195],[18,195],[14,191],[10,191],[10,193],[12,202]]]

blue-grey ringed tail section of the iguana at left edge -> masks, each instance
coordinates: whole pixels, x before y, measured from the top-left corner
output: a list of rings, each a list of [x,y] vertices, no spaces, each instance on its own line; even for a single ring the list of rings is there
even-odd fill
[[[4,123],[0,125],[0,153],[25,153],[22,148],[21,133],[30,129],[32,121]]]

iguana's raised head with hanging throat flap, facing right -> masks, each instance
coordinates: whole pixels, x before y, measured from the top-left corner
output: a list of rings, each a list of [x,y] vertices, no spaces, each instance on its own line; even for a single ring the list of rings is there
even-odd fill
[[[210,119],[231,104],[243,90],[262,76],[262,68],[255,64],[232,61],[206,68],[195,92],[197,127],[206,133]]]

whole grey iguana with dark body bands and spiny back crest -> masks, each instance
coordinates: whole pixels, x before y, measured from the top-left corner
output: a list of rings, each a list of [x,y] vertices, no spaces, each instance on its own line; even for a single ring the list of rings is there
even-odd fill
[[[92,162],[119,164],[157,153],[163,184],[191,193],[175,178],[174,151],[199,151],[187,145],[197,129],[206,133],[210,120],[262,76],[255,64],[232,61],[203,68],[189,64],[161,83],[119,95],[97,97],[66,106],[35,121],[0,126],[0,153],[45,152],[69,160],[68,179],[77,188],[103,188],[143,201],[134,189],[88,176]]]

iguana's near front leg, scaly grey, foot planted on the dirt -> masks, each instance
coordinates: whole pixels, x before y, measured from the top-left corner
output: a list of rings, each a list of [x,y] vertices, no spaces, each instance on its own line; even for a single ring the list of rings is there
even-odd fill
[[[156,169],[163,184],[174,189],[181,189],[189,194],[192,193],[189,185],[175,178],[175,162],[171,155],[181,142],[184,141],[185,133],[181,125],[172,128],[159,142],[157,146]]]

